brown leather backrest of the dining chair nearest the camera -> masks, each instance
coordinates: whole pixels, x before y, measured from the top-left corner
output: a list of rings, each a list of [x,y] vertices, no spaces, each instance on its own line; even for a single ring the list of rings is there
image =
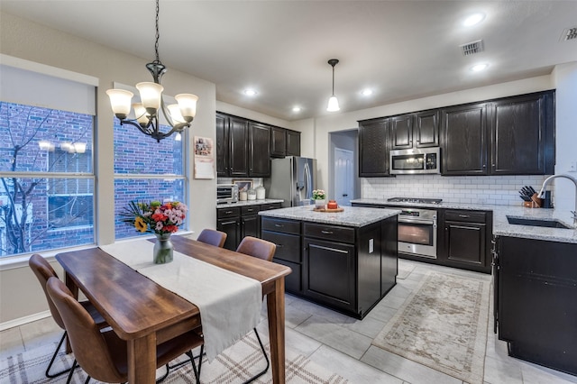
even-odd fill
[[[114,364],[115,357],[110,352],[112,348],[109,348],[105,334],[100,333],[92,316],[72,296],[69,288],[60,279],[50,278],[46,290],[66,325],[70,346],[80,367],[93,379],[105,382],[126,381],[125,372],[119,372]],[[126,345],[116,345],[114,350],[121,353],[124,351],[125,361]]]

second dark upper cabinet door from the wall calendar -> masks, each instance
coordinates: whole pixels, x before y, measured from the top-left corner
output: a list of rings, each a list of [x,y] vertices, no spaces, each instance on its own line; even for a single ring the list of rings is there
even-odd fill
[[[240,117],[230,116],[229,119],[229,175],[247,177],[249,176],[249,123]]]

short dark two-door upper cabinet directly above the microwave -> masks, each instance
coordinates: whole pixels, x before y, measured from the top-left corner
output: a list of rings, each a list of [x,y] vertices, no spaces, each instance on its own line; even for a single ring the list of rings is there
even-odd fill
[[[437,147],[439,145],[439,112],[401,114],[390,118],[391,150]]]

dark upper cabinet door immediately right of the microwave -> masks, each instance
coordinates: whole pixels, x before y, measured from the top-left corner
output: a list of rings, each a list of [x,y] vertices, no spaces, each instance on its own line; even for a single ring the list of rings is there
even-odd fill
[[[442,111],[444,175],[487,175],[486,105],[459,105]]]

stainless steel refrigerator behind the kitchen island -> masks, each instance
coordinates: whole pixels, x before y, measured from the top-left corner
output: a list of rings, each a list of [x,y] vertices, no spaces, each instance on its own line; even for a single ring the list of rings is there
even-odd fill
[[[316,160],[288,156],[270,163],[270,178],[264,179],[268,197],[282,198],[283,207],[309,205],[316,189]]]

